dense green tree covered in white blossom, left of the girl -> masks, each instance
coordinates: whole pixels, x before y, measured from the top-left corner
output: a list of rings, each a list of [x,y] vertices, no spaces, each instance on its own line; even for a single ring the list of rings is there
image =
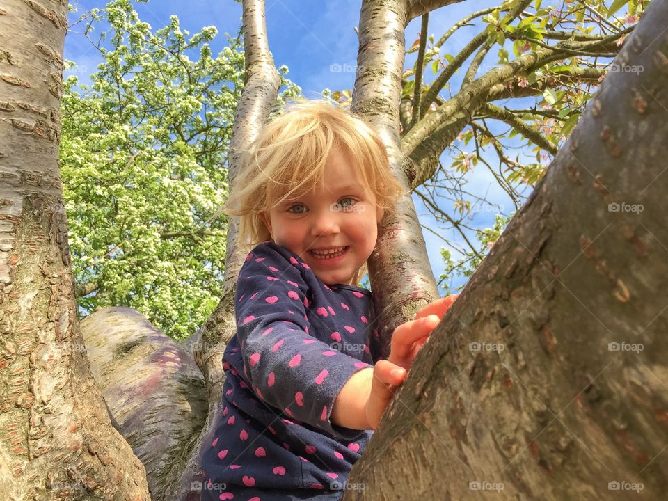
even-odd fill
[[[102,63],[64,81],[61,172],[79,308],[143,312],[181,339],[218,303],[225,266],[227,151],[241,96],[240,36],[212,55],[214,26],[152,31],[129,0],[91,11]],[[108,43],[106,42],[109,38]],[[71,64],[71,63],[70,63]],[[285,79],[283,96],[300,90]],[[79,295],[78,294],[78,295]]]

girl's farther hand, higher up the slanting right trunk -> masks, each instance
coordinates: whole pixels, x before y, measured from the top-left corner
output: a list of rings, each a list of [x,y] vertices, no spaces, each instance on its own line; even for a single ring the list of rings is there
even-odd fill
[[[390,342],[388,361],[408,371],[422,344],[427,341],[431,331],[434,331],[457,297],[459,294],[437,299],[421,308],[415,315],[415,320],[407,321],[395,328]]]

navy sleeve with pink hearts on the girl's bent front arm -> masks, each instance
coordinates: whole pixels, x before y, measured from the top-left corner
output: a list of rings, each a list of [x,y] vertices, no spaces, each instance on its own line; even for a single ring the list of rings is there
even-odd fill
[[[335,308],[314,310],[303,267],[294,256],[262,246],[241,268],[235,309],[244,375],[257,397],[294,420],[353,439],[363,431],[333,424],[332,406],[350,376],[372,365],[335,349],[342,340],[332,330]]]

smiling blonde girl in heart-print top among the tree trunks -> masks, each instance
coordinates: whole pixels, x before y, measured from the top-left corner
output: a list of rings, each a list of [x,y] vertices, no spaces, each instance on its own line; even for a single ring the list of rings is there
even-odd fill
[[[404,191],[362,120],[327,102],[294,104],[241,164],[226,212],[240,216],[239,242],[262,243],[237,280],[202,500],[339,500],[452,298],[395,329],[378,359],[371,292],[358,283]]]

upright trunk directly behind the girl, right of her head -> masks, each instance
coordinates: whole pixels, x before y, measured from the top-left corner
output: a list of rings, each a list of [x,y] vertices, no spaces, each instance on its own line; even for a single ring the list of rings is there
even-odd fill
[[[394,328],[438,298],[422,229],[410,196],[410,182],[406,177],[408,159],[401,152],[399,138],[398,103],[406,54],[404,30],[411,20],[408,7],[406,0],[363,1],[358,71],[351,106],[381,136],[392,171],[408,193],[392,210],[385,211],[379,223],[378,242],[369,259],[369,278],[379,317],[376,342],[382,358],[389,355]]]

